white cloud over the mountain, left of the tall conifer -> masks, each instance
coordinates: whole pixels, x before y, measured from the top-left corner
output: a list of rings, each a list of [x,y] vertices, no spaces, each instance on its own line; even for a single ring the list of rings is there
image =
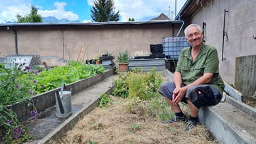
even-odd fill
[[[38,14],[43,17],[55,16],[55,18],[58,19],[67,18],[68,20],[78,20],[79,16],[77,14],[74,14],[70,11],[65,11],[66,5],[67,3],[64,3],[62,1],[60,3],[57,1],[54,3],[54,7],[56,8],[55,10],[38,10]]]

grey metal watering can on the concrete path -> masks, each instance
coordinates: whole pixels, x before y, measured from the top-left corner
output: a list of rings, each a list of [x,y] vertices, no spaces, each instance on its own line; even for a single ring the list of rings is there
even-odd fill
[[[68,117],[72,115],[71,91],[66,91],[66,85],[61,84],[61,91],[55,91],[56,116]]]

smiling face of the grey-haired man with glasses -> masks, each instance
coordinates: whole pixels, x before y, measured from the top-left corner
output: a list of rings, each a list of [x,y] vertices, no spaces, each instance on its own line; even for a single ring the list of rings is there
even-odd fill
[[[201,33],[199,29],[197,29],[197,27],[188,28],[186,41],[190,44],[190,46],[192,46],[193,48],[201,46],[202,38],[203,33]]]

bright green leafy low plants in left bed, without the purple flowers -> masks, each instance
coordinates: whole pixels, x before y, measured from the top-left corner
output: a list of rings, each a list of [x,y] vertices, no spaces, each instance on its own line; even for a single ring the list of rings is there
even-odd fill
[[[83,78],[104,73],[102,65],[86,65],[79,61],[70,61],[67,66],[55,67],[53,70],[44,70],[35,77],[38,82],[34,87],[36,94],[49,91],[61,86],[61,83],[74,83]]]

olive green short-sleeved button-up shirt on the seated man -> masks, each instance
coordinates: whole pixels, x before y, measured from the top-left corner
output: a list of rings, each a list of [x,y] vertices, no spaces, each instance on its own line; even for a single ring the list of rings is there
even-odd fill
[[[191,55],[191,48],[184,48],[180,52],[175,71],[182,74],[182,82],[185,85],[193,83],[205,73],[213,73],[210,83],[205,84],[212,85],[212,87],[223,93],[225,85],[218,73],[218,63],[218,52],[216,48],[203,43],[195,61],[193,61]]]

